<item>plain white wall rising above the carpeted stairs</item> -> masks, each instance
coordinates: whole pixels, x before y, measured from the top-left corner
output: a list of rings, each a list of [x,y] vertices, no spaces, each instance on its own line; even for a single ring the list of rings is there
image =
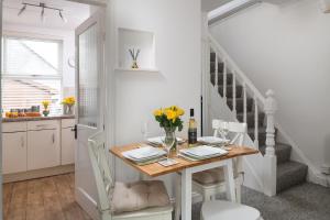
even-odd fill
[[[318,1],[301,0],[262,3],[210,28],[262,92],[276,91],[276,119],[318,169],[330,164],[329,26]]]

